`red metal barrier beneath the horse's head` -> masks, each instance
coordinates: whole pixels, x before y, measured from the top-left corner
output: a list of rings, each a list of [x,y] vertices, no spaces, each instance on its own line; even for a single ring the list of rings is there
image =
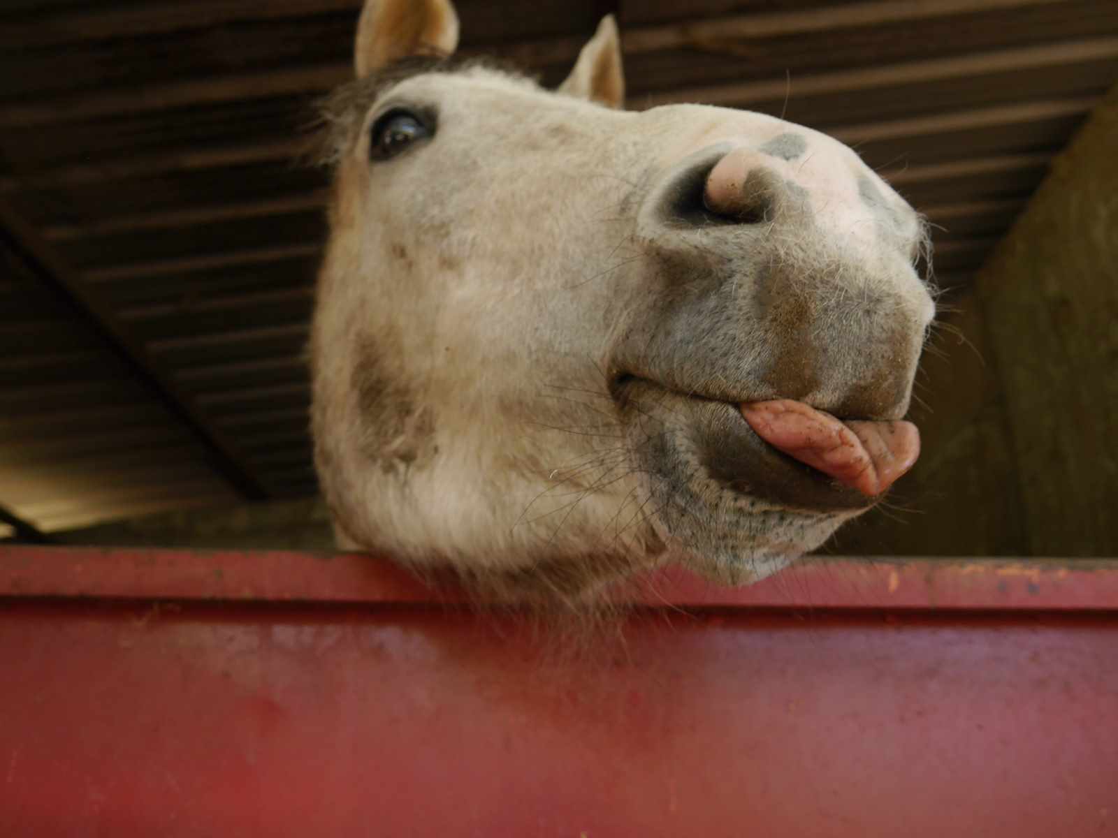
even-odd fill
[[[0,547],[0,835],[1118,835],[1118,562],[641,596],[563,655],[364,556]]]

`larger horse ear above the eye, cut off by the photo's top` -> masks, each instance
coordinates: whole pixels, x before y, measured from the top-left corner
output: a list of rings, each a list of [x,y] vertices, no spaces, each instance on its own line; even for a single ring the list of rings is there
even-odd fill
[[[458,46],[451,0],[366,0],[357,25],[353,66],[364,78],[409,56],[448,56]]]

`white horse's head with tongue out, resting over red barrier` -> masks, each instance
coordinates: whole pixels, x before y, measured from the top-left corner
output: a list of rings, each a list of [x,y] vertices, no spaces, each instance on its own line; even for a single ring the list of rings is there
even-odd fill
[[[917,213],[809,128],[618,109],[612,18],[558,92],[457,32],[449,0],[369,0],[326,106],[340,543],[577,600],[666,561],[756,580],[872,506],[919,449]]]

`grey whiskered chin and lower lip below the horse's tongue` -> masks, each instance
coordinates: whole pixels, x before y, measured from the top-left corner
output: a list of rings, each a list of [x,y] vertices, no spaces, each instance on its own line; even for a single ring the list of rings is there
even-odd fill
[[[762,579],[872,505],[771,449],[733,404],[633,379],[618,407],[657,533],[714,581]]]

